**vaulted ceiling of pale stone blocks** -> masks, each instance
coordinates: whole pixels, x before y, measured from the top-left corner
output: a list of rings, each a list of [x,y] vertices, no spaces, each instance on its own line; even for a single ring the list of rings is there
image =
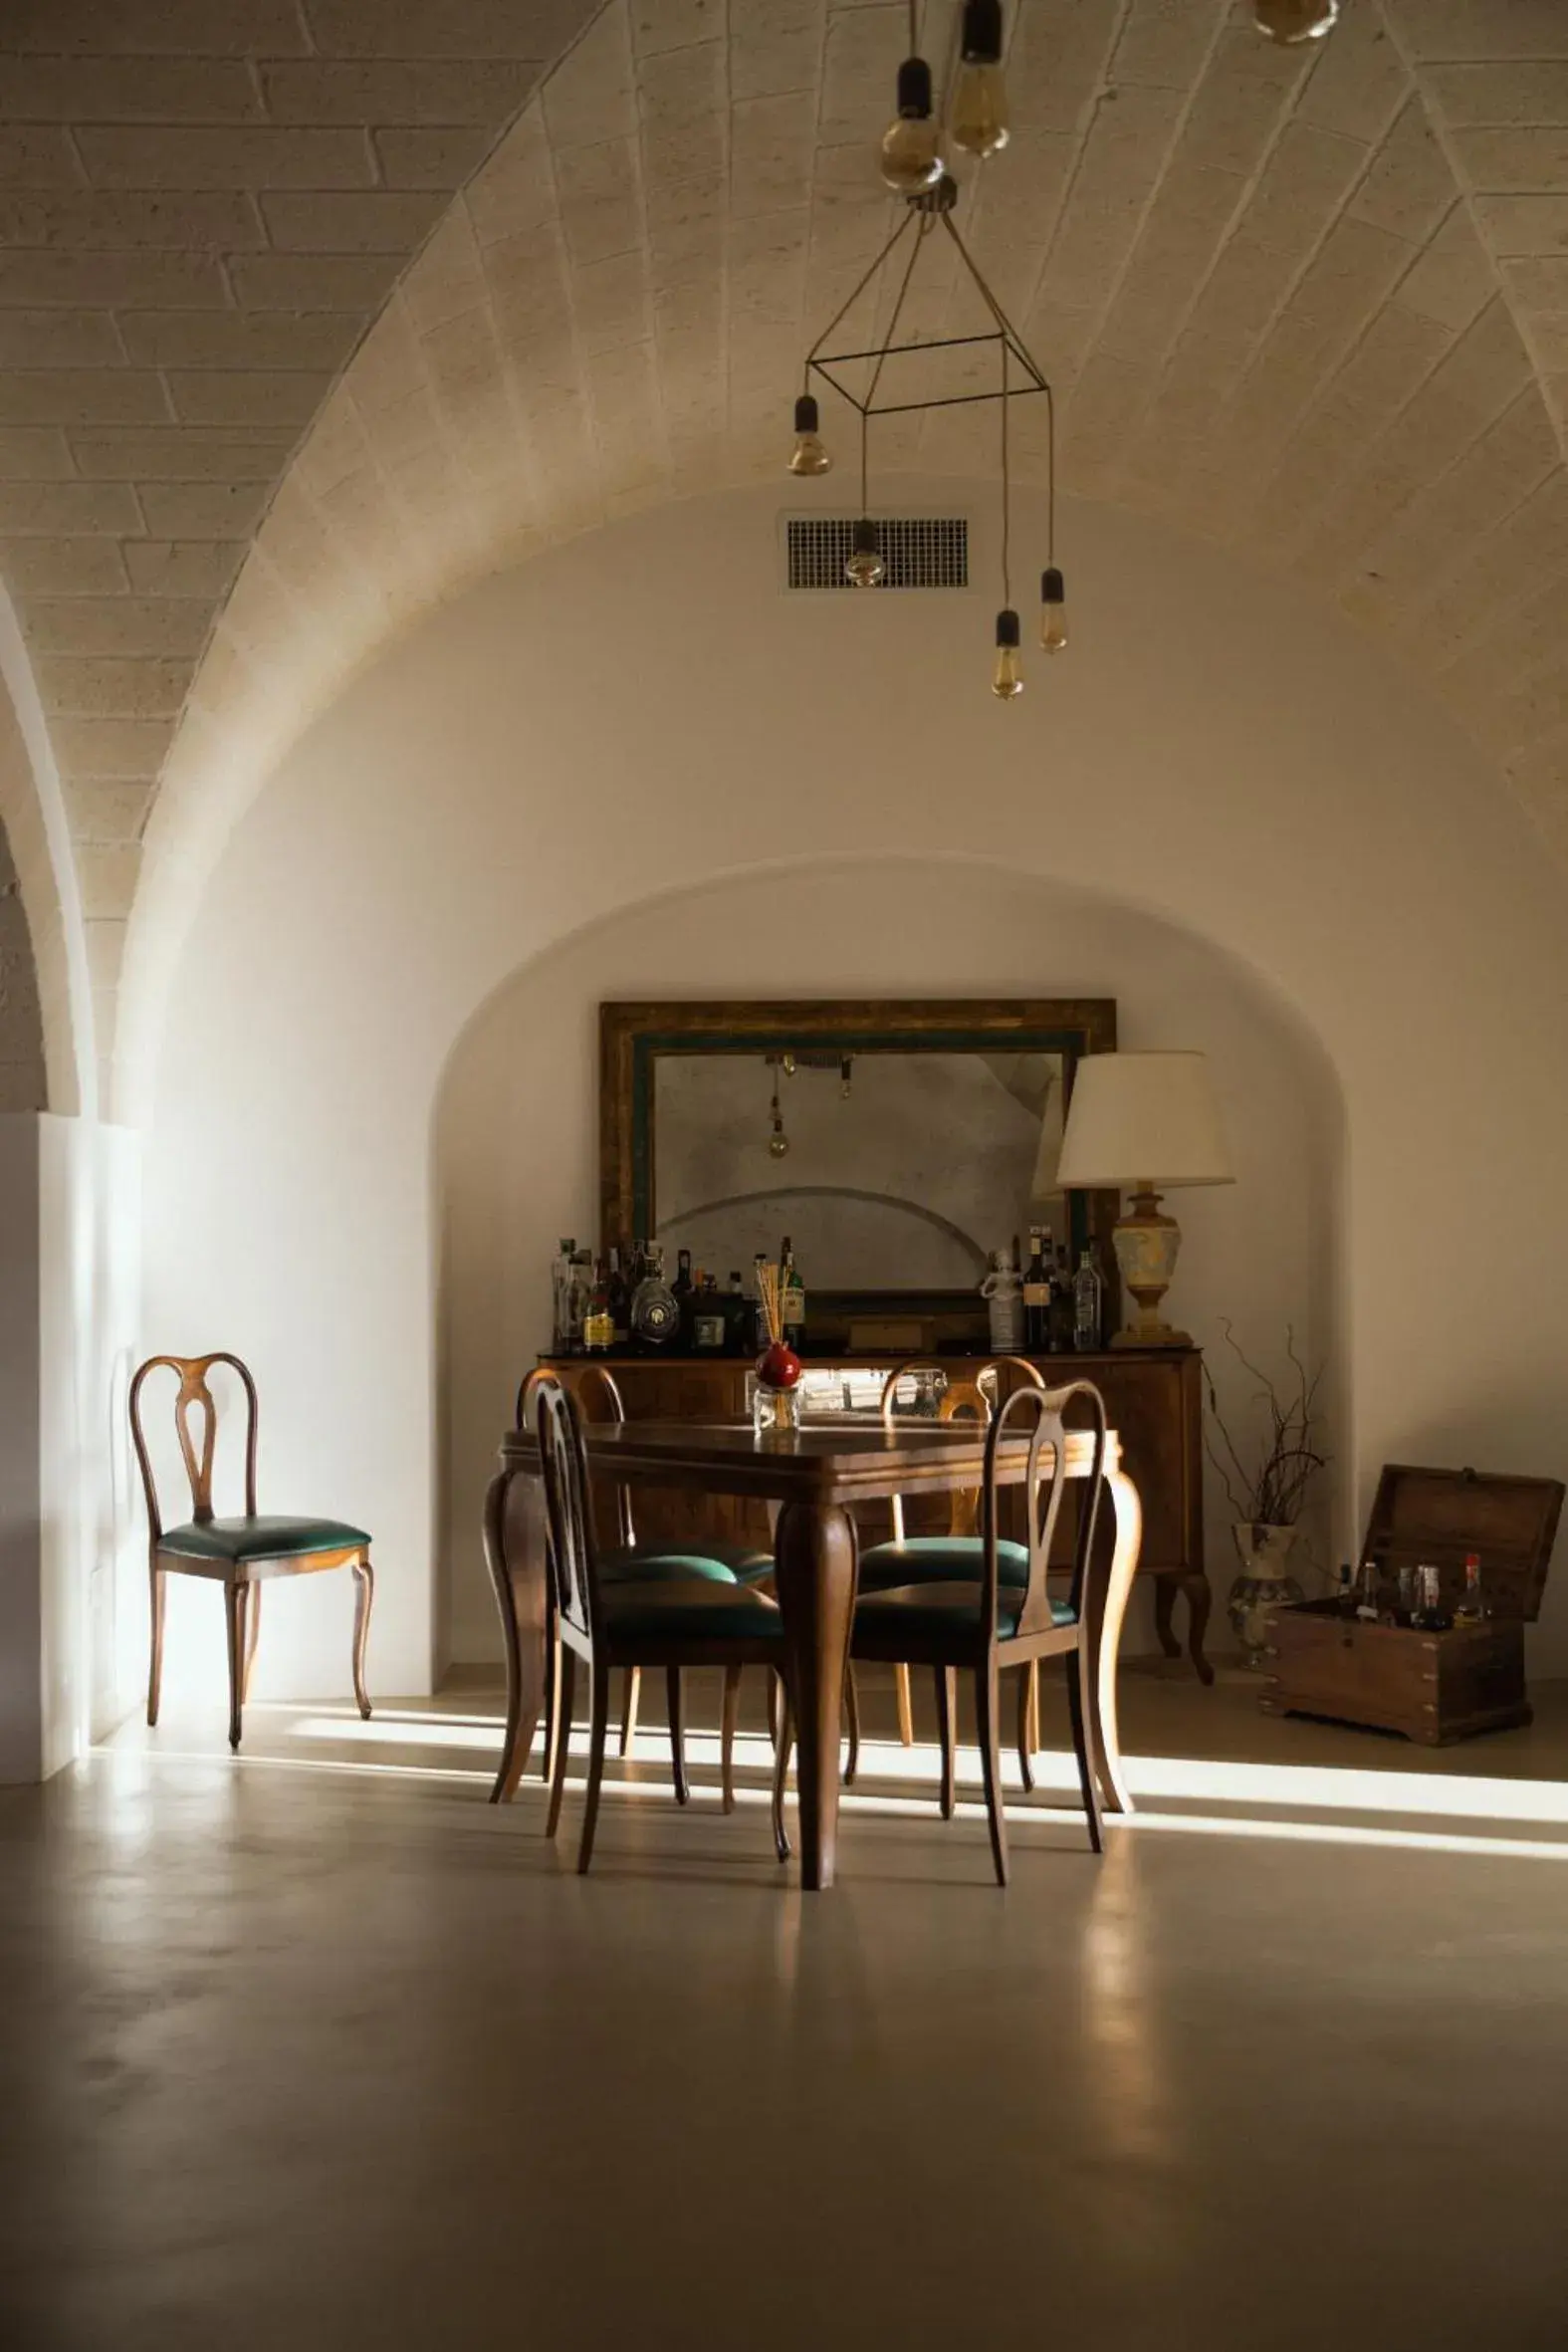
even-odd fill
[[[195,873],[390,633],[780,466],[893,221],[905,12],[611,0],[543,78],[585,16],[12,0],[0,572],[103,1018],[143,856]],[[1345,0],[1293,52],[1232,0],[1016,0],[1009,33],[1013,143],[964,212],[1063,485],[1385,630],[1568,851],[1568,0]],[[919,329],[969,315],[926,287]],[[978,437],[884,447],[973,470]]]

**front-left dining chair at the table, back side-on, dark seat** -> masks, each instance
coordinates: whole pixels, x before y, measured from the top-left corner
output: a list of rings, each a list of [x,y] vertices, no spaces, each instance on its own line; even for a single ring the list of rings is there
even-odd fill
[[[783,1677],[783,1616],[778,1602],[750,1585],[719,1583],[705,1576],[637,1578],[607,1583],[599,1576],[599,1552],[588,1503],[588,1458],[576,1399],[552,1376],[534,1383],[538,1456],[545,1484],[545,1519],[550,1526],[550,1576],[555,1623],[559,1632],[559,1736],[550,1773],[550,1813],[545,1837],[555,1837],[567,1788],[567,1750],[576,1661],[590,1675],[588,1799],[578,1870],[592,1860],[604,1780],[604,1743],[609,1738],[609,1677],[614,1668],[663,1665],[670,1691],[670,1759],[675,1795],[686,1802],[686,1762],[682,1748],[682,1668],[717,1665],[724,1670],[724,1717],[719,1736],[719,1778],[724,1811],[733,1811],[736,1698],[741,1670],[766,1665]],[[790,1842],[783,1828],[783,1748],[773,1771],[773,1846],[788,1860]]]

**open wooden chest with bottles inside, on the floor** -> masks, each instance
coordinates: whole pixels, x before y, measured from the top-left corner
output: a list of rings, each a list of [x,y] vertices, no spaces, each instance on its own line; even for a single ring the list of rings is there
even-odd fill
[[[1340,1602],[1279,1609],[1267,1635],[1265,1715],[1324,1715],[1403,1731],[1425,1748],[1528,1724],[1523,1625],[1540,1616],[1561,1508],[1559,1479],[1389,1463],[1361,1559],[1378,1562],[1389,1597],[1401,1566],[1436,1566],[1450,1611],[1474,1552],[1493,1613],[1429,1632],[1368,1623]]]

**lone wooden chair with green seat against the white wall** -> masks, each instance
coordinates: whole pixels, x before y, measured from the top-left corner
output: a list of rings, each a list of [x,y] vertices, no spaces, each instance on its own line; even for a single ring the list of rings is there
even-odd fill
[[[244,1517],[214,1519],[212,1515],[212,1463],[219,1437],[219,1406],[207,1374],[214,1364],[228,1364],[244,1388]],[[174,1430],[179,1451],[190,1479],[190,1519],[183,1526],[165,1526],[158,1503],[153,1458],[141,1430],[141,1385],[150,1371],[179,1374],[174,1397]],[[202,1414],[202,1442],[190,1439],[190,1409]],[[320,1569],[353,1569],[355,1573],[355,1644],[353,1677],[360,1715],[369,1717],[364,1696],[364,1642],[369,1637],[369,1611],[376,1576],[369,1562],[369,1536],[346,1519],[275,1519],[256,1515],[256,1383],[237,1355],[216,1350],[214,1355],[150,1355],[136,1369],[129,1397],[132,1444],[141,1465],[141,1489],[148,1503],[148,1581],[153,1602],[153,1656],[148,1665],[148,1724],[158,1722],[162,1693],[162,1616],[165,1578],[207,1576],[223,1585],[223,1613],[228,1618],[228,1745],[240,1745],[240,1712],[252,1684],[256,1663],[256,1639],[261,1635],[261,1585],[275,1576],[315,1576]]]

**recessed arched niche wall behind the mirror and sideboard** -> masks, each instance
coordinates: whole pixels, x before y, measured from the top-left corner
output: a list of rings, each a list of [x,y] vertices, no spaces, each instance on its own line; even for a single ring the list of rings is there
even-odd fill
[[[1255,1383],[1227,1362],[1220,1317],[1281,1374],[1286,1324],[1312,1364],[1335,1348],[1342,1117],[1316,1044],[1253,974],[1206,941],[1001,863],[853,858],[682,889],[592,922],[517,971],[451,1056],[435,1117],[442,1465],[437,1656],[498,1663],[475,1524],[520,1374],[550,1343],[548,1258],[590,1230],[597,1200],[597,1007],[604,997],[745,997],[759,941],[788,941],[762,993],[1110,995],[1126,1047],[1213,1056],[1239,1183],[1180,1202],[1173,1312],[1215,1341],[1227,1418],[1251,1428]],[[912,967],[917,957],[917,969]],[[548,1117],[541,1105],[548,1103]],[[961,1138],[952,1138],[961,1150]],[[992,1240],[1006,1240],[994,1235]],[[811,1268],[806,1265],[806,1279]],[[1342,1451],[1342,1378],[1326,1399]],[[1328,1496],[1321,1498],[1324,1503]],[[1229,1550],[1213,1482],[1211,1555]],[[1328,1512],[1312,1526],[1324,1557]]]

